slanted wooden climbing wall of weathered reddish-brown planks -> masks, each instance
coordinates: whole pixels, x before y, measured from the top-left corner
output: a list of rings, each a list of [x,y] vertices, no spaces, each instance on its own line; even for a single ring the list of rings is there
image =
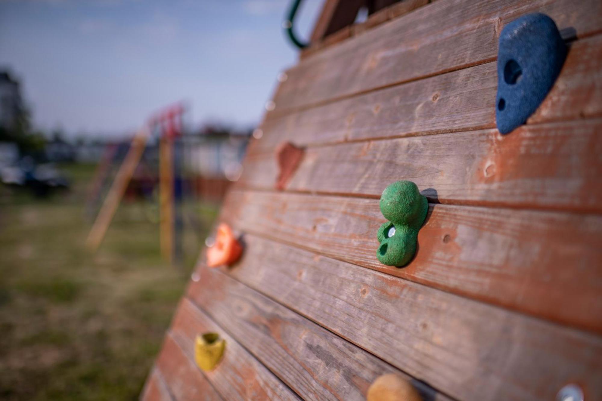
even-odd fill
[[[602,2],[411,4],[282,75],[219,218],[243,257],[201,255],[142,399],[363,400],[388,372],[426,400],[555,400],[569,383],[602,399]],[[568,58],[502,136],[498,36],[537,11]],[[278,191],[286,141],[306,151]],[[429,198],[403,269],[376,260],[378,199],[400,179]],[[208,373],[206,331],[227,344]]]

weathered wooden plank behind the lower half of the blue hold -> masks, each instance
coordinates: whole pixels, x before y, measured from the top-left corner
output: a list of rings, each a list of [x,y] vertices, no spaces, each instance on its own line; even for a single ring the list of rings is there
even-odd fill
[[[296,145],[495,128],[496,64],[408,82],[268,118],[255,152]],[[571,44],[562,72],[529,123],[602,115],[602,36]]]

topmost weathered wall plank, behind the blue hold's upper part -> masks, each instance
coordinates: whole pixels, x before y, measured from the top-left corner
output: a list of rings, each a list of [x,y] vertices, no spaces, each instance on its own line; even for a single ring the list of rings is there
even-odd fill
[[[504,24],[533,12],[552,17],[565,38],[602,30],[597,0],[439,0],[303,59],[270,114],[493,61]]]

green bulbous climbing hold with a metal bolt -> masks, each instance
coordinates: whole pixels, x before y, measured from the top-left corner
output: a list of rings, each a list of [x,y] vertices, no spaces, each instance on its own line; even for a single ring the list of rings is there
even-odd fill
[[[376,257],[387,266],[403,267],[416,253],[418,230],[426,219],[429,202],[412,181],[397,181],[380,196],[380,212],[389,220],[380,226]]]

